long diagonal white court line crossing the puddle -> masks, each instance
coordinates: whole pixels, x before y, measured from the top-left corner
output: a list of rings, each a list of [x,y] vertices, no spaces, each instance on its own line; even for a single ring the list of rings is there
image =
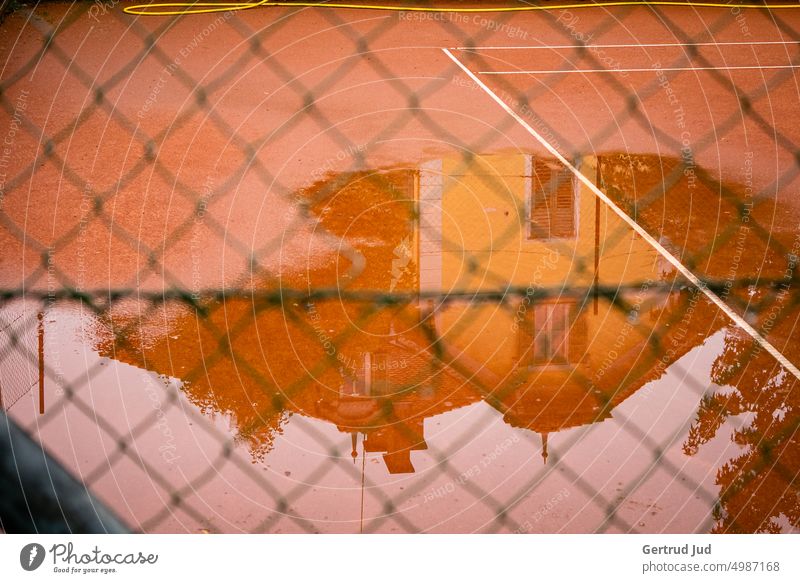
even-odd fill
[[[564,166],[566,166],[570,172],[572,172],[575,177],[580,180],[586,187],[591,190],[595,196],[597,196],[600,200],[608,205],[608,207],[619,217],[621,218],[629,227],[631,227],[637,234],[639,234],[645,241],[647,241],[651,247],[653,247],[656,251],[658,251],[661,256],[669,261],[675,269],[680,272],[687,280],[689,280],[692,285],[694,285],[697,289],[699,289],[703,295],[705,295],[714,305],[716,305],[723,313],[728,316],[733,322],[739,326],[742,330],[747,332],[747,334],[755,340],[761,347],[766,350],[770,355],[772,355],[775,360],[777,360],[786,370],[788,370],[795,378],[800,380],[800,369],[798,369],[794,364],[792,364],[788,358],[786,358],[777,348],[775,348],[770,342],[764,338],[758,331],[753,328],[750,324],[748,324],[739,314],[734,312],[725,302],[723,302],[720,297],[715,294],[713,291],[706,287],[706,284],[703,283],[700,278],[698,278],[694,273],[689,271],[688,268],[684,267],[684,265],[678,261],[678,259],[672,255],[669,251],[667,251],[661,243],[656,241],[650,233],[645,231],[639,223],[634,221],[630,218],[625,211],[619,208],[614,201],[612,201],[602,190],[600,190],[596,184],[594,184],[591,180],[589,180],[580,170],[578,170],[569,160],[567,160],[561,152],[556,150],[550,142],[545,140],[539,133],[533,129],[528,122],[526,122],[522,117],[517,114],[511,107],[502,99],[500,99],[497,94],[489,89],[486,84],[481,81],[475,73],[470,71],[461,61],[459,61],[453,53],[450,52],[449,49],[442,49],[444,54],[446,54],[451,61],[453,61],[464,73],[466,73],[483,91],[491,97],[497,105],[503,108],[503,110],[513,117],[518,124],[520,124],[530,135],[532,135],[536,140],[544,146],[548,152],[550,152],[553,156],[555,156],[559,162],[561,162]]]

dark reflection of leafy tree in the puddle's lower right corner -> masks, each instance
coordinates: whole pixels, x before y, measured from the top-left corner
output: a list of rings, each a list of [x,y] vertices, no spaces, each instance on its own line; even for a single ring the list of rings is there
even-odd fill
[[[784,306],[782,306],[784,307]],[[785,354],[798,354],[797,307],[786,310],[780,336]],[[705,396],[683,446],[695,455],[731,420],[744,420],[731,439],[740,454],[716,472],[720,487],[712,532],[782,532],[797,528],[798,421],[797,379],[776,370],[773,359],[749,339],[729,331],[715,360],[711,380],[720,389]]]

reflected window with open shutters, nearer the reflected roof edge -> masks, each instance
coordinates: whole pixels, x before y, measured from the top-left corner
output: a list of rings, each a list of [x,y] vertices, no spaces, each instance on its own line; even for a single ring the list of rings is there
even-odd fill
[[[520,326],[520,364],[570,364],[570,311],[573,302],[531,306]]]

